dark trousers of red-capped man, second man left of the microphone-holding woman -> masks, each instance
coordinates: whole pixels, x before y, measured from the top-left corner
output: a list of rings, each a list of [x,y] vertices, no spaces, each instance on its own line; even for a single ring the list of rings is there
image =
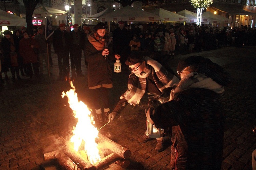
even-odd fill
[[[62,49],[57,53],[59,71],[62,72],[69,68],[69,48]]]

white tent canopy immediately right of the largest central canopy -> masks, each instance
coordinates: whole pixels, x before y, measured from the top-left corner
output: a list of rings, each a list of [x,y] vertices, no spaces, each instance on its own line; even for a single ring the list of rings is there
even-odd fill
[[[179,14],[164,10],[162,8],[155,9],[150,11],[150,13],[158,15],[161,18],[162,22],[184,22],[187,20],[187,17],[184,17]]]

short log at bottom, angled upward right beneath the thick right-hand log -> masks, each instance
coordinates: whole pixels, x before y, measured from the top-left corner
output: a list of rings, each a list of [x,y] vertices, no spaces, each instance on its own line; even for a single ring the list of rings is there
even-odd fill
[[[105,156],[104,158],[96,162],[94,166],[96,167],[96,169],[103,169],[109,166],[110,164],[113,164],[118,159],[120,159],[120,156],[118,154],[111,153],[108,156]]]

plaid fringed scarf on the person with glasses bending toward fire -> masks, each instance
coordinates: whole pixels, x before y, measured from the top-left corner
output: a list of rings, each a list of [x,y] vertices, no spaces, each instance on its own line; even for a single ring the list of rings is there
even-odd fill
[[[168,72],[165,67],[159,64],[157,61],[151,59],[150,57],[145,57],[145,62],[151,67],[154,82],[160,91],[179,83],[179,79]],[[131,73],[128,79],[128,89],[120,97],[120,99],[126,99],[129,104],[134,106],[139,104],[146,91],[146,84],[147,78],[138,77],[134,73]]]

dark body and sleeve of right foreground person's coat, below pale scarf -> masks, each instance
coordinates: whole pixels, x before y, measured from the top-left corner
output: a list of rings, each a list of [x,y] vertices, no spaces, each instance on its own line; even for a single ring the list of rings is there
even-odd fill
[[[172,127],[172,168],[221,169],[224,113],[218,94],[202,88],[184,90],[155,113],[158,116],[151,118],[156,126]]]

